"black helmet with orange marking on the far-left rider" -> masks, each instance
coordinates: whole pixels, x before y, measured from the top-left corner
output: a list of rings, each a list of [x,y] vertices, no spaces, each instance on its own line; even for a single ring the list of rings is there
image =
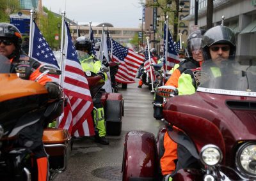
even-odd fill
[[[22,36],[19,29],[15,25],[8,23],[0,23],[0,38],[8,38],[13,41],[16,52],[20,52],[22,44]]]

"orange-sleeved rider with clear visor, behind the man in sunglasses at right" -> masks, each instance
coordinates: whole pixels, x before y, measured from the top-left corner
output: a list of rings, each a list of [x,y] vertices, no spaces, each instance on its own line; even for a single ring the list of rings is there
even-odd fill
[[[197,30],[189,34],[187,40],[187,48],[185,61],[176,64],[175,70],[173,71],[172,76],[168,79],[165,85],[172,85],[178,87],[178,80],[180,75],[186,71],[186,69],[194,69],[200,67],[200,63],[204,60],[202,57],[201,50],[201,40],[204,35],[204,30]],[[163,136],[163,145],[164,148],[163,155],[161,155],[160,164],[162,175],[168,175],[172,173],[176,168],[177,161],[177,143],[172,141],[168,136],[168,132],[164,133]]]

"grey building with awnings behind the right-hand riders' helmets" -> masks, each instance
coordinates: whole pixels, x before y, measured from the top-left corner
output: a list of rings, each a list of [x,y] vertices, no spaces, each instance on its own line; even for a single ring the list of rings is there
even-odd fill
[[[190,30],[196,29],[195,1],[190,0],[189,20]],[[207,0],[198,0],[198,28],[206,26]],[[256,1],[255,0],[214,0],[213,25],[221,24],[224,16],[224,25],[236,33],[237,55],[256,55]]]

